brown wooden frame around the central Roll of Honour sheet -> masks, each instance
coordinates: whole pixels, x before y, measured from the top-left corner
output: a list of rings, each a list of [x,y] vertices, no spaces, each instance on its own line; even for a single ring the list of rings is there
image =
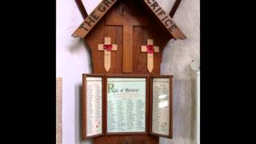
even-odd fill
[[[107,89],[105,88],[105,134],[106,135],[140,135],[148,134],[148,118],[149,118],[149,75],[148,74],[106,74],[105,75],[105,86],[107,85],[107,78],[146,78],[146,115],[145,115],[145,131],[144,132],[107,132]]]

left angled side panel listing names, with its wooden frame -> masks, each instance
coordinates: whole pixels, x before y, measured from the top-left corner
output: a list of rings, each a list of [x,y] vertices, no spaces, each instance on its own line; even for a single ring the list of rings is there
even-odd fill
[[[83,138],[102,135],[103,77],[83,75]]]

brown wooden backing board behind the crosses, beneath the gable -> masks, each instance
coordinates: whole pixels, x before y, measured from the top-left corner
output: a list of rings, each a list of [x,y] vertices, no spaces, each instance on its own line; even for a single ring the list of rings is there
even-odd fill
[[[104,37],[106,36],[109,36],[112,39],[112,43],[118,45],[118,50],[111,52],[111,68],[108,73],[122,74],[123,46],[131,46],[131,42],[125,41],[122,35],[122,26],[105,26],[105,21],[103,19],[97,26],[95,26],[94,30],[88,34],[86,42],[88,42],[90,46],[94,74],[106,74],[106,70],[104,70],[104,67],[102,66],[102,62],[104,62],[104,52],[95,50],[99,43],[104,42]],[[166,31],[160,29],[158,24],[155,23],[152,18],[150,19],[150,26],[134,26],[133,28],[132,54],[136,55],[136,57],[133,56],[132,62],[132,70],[134,74],[149,74],[146,68],[146,54],[142,54],[140,51],[142,45],[146,46],[146,40],[149,38],[154,39],[154,46],[159,46],[160,48],[160,53],[154,54],[154,70],[151,74],[160,74],[162,50],[170,37],[166,36]],[[122,43],[123,41],[124,43]],[[128,45],[125,43],[128,43]]]

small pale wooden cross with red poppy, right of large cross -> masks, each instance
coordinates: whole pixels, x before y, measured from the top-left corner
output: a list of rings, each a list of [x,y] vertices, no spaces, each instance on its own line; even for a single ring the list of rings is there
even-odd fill
[[[142,52],[147,53],[147,70],[151,73],[154,69],[154,53],[159,52],[159,46],[154,46],[153,39],[148,39],[146,45],[142,46]]]

